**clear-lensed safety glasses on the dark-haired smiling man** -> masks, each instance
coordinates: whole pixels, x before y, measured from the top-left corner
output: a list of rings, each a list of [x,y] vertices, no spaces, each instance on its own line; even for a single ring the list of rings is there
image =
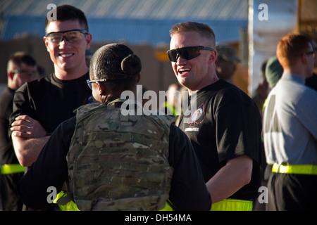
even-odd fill
[[[59,44],[65,38],[69,43],[81,40],[84,34],[89,34],[87,30],[66,30],[62,32],[46,33],[45,37],[51,43]]]

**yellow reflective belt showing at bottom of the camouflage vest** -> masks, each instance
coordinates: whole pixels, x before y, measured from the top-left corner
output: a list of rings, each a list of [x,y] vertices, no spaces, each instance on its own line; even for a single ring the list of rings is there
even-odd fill
[[[53,203],[57,204],[61,211],[80,211],[77,205],[68,198],[67,192],[61,191],[56,195],[56,199],[53,200]],[[160,211],[174,211],[172,203],[166,201],[165,207]]]

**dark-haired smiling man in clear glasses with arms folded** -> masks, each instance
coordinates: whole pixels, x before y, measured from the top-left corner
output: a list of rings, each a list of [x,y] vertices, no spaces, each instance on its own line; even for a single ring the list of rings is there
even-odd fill
[[[58,124],[72,117],[73,110],[91,96],[85,51],[92,34],[85,14],[63,5],[56,8],[56,15],[57,20],[46,18],[44,36],[54,72],[15,92],[11,137],[18,160],[26,167],[37,159]]]

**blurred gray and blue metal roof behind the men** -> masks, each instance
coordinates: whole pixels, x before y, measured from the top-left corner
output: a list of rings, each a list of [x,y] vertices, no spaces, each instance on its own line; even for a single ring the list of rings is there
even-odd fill
[[[240,28],[247,28],[248,0],[6,0],[0,1],[0,39],[25,32],[42,37],[51,3],[80,8],[94,41],[169,43],[170,27],[188,20],[209,24],[218,42],[237,41]]]

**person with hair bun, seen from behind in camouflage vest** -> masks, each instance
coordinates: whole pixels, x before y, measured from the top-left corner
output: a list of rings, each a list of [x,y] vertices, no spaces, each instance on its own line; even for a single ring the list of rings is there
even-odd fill
[[[123,44],[94,53],[87,84],[97,103],[78,108],[51,135],[18,186],[25,205],[51,207],[47,188],[61,191],[66,181],[76,210],[162,210],[167,201],[174,210],[210,210],[199,162],[173,119],[120,112],[120,95],[135,93],[140,71]]]

